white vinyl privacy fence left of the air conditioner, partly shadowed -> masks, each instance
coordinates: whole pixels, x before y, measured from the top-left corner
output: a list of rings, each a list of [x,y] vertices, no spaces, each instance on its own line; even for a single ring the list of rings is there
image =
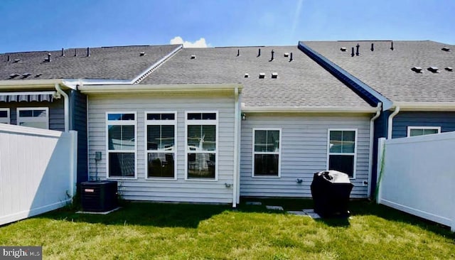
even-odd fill
[[[71,201],[76,147],[76,131],[0,124],[0,225]]]

